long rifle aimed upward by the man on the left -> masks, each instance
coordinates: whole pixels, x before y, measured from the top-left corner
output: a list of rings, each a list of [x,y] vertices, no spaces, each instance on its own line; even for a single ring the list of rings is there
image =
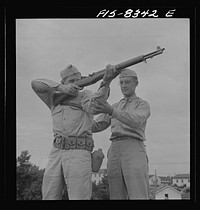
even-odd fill
[[[164,49],[165,48],[160,48],[158,46],[157,50],[154,51],[154,52],[151,52],[151,53],[146,54],[146,55],[140,55],[138,57],[126,60],[122,63],[116,64],[115,65],[116,74],[113,76],[113,79],[120,74],[122,69],[127,68],[127,67],[132,66],[132,65],[135,65],[135,64],[140,63],[140,62],[147,63],[147,61],[146,61],[147,59],[153,58],[154,56],[163,53]],[[100,70],[98,72],[94,72],[92,74],[89,74],[88,76],[82,76],[81,80],[75,82],[75,84],[83,89],[84,87],[92,85],[92,84],[96,83],[97,81],[101,80],[103,78],[105,72],[106,72],[106,69],[103,69],[103,70]],[[106,84],[106,82],[103,81],[101,83],[100,87],[103,87],[105,84]],[[59,102],[64,101],[66,98],[68,100],[71,100],[72,98],[74,98],[74,96],[69,97],[69,94],[67,94],[67,96],[66,96],[65,93],[55,91],[54,92],[54,105],[59,104]]]

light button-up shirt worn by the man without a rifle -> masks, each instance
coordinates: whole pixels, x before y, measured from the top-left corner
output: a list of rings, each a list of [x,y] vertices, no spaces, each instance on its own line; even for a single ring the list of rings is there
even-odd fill
[[[112,116],[100,115],[93,123],[93,132],[99,132],[111,125],[112,135],[110,140],[133,137],[146,140],[145,128],[150,116],[150,106],[147,101],[136,95],[112,105]]]

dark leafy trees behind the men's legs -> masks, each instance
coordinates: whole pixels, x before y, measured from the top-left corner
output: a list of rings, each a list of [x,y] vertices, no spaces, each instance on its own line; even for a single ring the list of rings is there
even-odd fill
[[[45,169],[30,162],[28,150],[22,151],[16,159],[16,200],[42,200],[42,179]],[[62,200],[68,200],[67,187]],[[92,183],[91,200],[109,200],[108,180],[104,174],[100,183]]]

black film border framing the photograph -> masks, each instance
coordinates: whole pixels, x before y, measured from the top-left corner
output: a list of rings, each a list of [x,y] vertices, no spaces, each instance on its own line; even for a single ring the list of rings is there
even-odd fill
[[[28,5],[27,5],[28,4]],[[50,5],[40,5],[38,3],[26,3],[26,4],[17,4],[4,6],[4,54],[5,54],[5,100],[4,100],[4,131],[6,135],[4,137],[4,147],[3,147],[3,163],[4,163],[4,203],[10,204],[9,201],[16,201],[16,41],[15,41],[15,20],[17,18],[96,18],[98,12],[102,9],[108,10],[127,10],[129,8],[135,9],[158,9],[161,13],[167,9],[176,9],[176,14],[173,18],[189,18],[190,19],[190,107],[191,107],[191,199],[186,201],[156,201],[156,204],[173,204],[174,205],[186,205],[186,204],[196,204],[197,202],[197,142],[196,142],[196,31],[197,31],[197,8],[196,7],[177,7],[177,6],[116,6],[116,7],[91,7],[91,6],[82,6],[79,4],[79,7],[66,5],[66,2],[54,3]],[[162,18],[162,17],[160,17]],[[163,17],[164,18],[164,17]],[[178,56],[178,55],[177,55]],[[15,102],[15,103],[14,103]],[[101,201],[102,202],[102,201]],[[135,201],[134,201],[135,202]],[[163,203],[165,202],[165,203]],[[28,202],[33,206],[38,202]],[[155,202],[142,202],[142,204],[155,204]],[[16,201],[17,205],[27,205],[27,202]],[[74,205],[74,203],[72,203]],[[112,204],[112,203],[111,203]],[[139,203],[141,204],[141,202]],[[41,205],[41,203],[40,203]],[[69,204],[67,204],[69,205]],[[107,205],[107,204],[106,204]]]

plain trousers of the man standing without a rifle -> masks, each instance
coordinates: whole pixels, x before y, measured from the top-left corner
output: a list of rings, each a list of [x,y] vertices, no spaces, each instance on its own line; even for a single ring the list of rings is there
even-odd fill
[[[148,160],[143,141],[114,140],[108,151],[110,199],[148,199]]]

